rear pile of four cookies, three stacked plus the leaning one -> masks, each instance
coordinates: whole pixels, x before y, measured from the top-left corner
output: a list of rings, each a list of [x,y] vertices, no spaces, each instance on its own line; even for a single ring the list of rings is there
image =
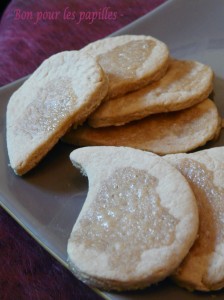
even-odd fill
[[[25,174],[60,138],[188,152],[219,134],[212,80],[210,67],[171,59],[151,36],[110,37],[53,55],[9,100],[10,165]]]

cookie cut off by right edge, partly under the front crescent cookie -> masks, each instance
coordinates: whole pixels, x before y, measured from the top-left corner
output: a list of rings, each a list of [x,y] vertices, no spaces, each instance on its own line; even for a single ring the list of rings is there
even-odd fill
[[[191,290],[224,287],[224,147],[166,159],[186,177],[199,208],[199,234],[174,279]]]

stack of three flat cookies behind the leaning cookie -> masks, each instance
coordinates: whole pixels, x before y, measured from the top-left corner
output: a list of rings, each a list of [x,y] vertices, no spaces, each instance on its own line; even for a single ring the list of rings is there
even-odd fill
[[[87,122],[63,141],[164,155],[188,152],[219,135],[221,119],[208,99],[213,89],[209,66],[171,59],[164,43],[147,36],[107,38],[81,51],[97,58],[109,91]]]

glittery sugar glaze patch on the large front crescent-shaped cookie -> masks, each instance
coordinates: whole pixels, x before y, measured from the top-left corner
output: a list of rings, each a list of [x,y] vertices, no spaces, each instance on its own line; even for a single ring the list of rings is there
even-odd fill
[[[146,171],[116,170],[102,183],[73,242],[106,252],[111,269],[134,274],[145,250],[175,239],[178,220],[161,205],[156,186],[157,179]]]

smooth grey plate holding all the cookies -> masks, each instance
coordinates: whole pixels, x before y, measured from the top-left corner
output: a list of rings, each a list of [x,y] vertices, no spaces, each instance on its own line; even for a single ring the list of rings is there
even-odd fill
[[[140,18],[120,34],[149,34],[168,44],[171,55],[209,64],[215,72],[214,100],[224,115],[224,1],[171,0]],[[8,167],[5,112],[10,95],[24,79],[0,88],[0,202],[56,259],[67,267],[69,234],[87,194],[87,179],[69,161],[72,147],[58,144],[28,175],[15,176]],[[207,147],[224,145],[224,135]],[[224,298],[224,291],[213,293]],[[104,293],[113,300],[211,299],[190,293],[166,280],[144,291]]]

